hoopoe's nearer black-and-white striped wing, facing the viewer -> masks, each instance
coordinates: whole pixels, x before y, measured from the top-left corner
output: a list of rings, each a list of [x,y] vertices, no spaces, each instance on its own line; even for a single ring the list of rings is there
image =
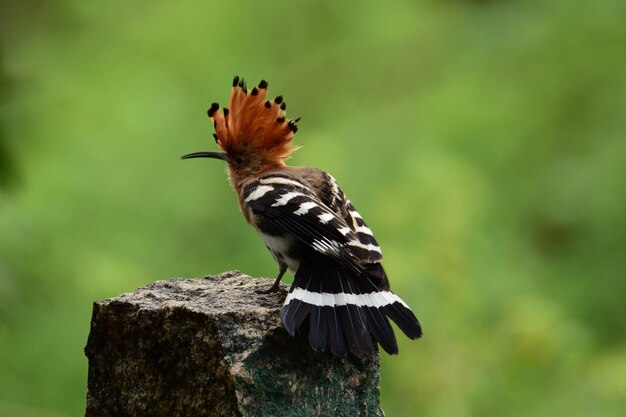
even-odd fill
[[[285,177],[262,178],[244,188],[243,198],[255,216],[295,236],[316,252],[360,272],[352,245],[359,240],[346,221],[305,184]]]

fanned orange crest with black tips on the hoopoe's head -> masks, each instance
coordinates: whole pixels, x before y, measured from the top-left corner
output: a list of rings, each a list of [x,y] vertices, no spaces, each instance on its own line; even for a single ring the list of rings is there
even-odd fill
[[[291,145],[296,122],[285,117],[282,96],[266,100],[267,82],[248,91],[243,79],[235,77],[228,108],[213,103],[208,111],[215,127],[215,140],[226,153],[253,152],[267,160],[287,158],[299,147]]]

